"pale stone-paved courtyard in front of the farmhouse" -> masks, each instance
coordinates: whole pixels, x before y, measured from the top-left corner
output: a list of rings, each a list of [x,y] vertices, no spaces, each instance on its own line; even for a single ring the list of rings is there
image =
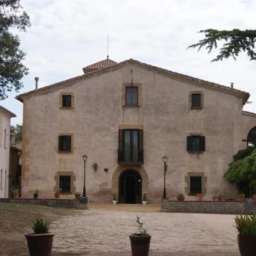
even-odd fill
[[[150,255],[240,255],[234,215],[166,213],[142,205],[90,205],[89,210],[76,210],[75,217],[54,221],[53,251],[131,255],[128,235],[137,231],[136,216],[152,236]]]

